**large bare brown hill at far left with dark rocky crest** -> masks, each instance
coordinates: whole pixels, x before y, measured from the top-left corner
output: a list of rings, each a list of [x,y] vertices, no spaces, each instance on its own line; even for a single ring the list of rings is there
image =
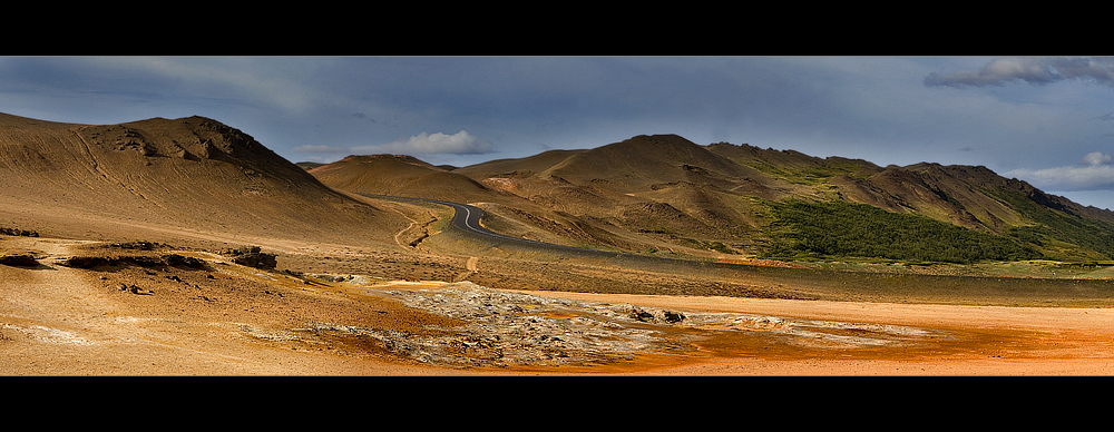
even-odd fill
[[[196,116],[79,125],[0,115],[0,224],[79,238],[328,240],[407,225]]]

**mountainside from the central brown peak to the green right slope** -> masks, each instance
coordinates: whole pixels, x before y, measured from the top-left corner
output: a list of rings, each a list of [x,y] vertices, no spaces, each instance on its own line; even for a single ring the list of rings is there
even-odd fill
[[[880,167],[861,159],[819,158],[745,144],[701,146],[664,135],[637,136],[586,150],[495,160],[453,173],[539,206],[677,247],[775,258],[964,263],[1114,259],[1114,213],[1045,194],[986,167],[928,163]],[[783,209],[785,203],[794,202],[836,203],[840,209],[797,206],[790,217]],[[901,216],[863,225],[862,218],[888,216],[856,205]],[[808,212],[820,214],[809,216]],[[997,252],[924,255],[929,258],[867,252],[880,251],[893,242],[878,230],[867,230],[866,236],[857,238],[870,247],[820,247],[820,243],[836,240],[815,236],[830,236],[831,232],[815,230],[805,222],[832,214],[853,219],[829,220],[831,229],[856,224],[876,229],[913,224],[918,225],[913,232],[950,232],[939,225],[946,224],[964,228],[958,236],[974,242],[951,248],[978,249],[980,242],[1000,247],[994,248]],[[929,247],[922,243],[905,246],[909,251]]]

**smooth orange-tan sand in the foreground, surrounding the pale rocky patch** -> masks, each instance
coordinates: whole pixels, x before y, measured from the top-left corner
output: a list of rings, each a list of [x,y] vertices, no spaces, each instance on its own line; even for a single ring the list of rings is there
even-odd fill
[[[569,348],[565,352],[569,357],[564,359],[571,360],[564,364],[553,363],[561,360],[555,356],[547,360],[550,363],[509,367],[423,363],[416,360],[413,352],[388,350],[383,340],[371,336],[390,330],[407,335],[398,341],[451,340],[446,334],[457,335],[458,341],[471,334],[475,340],[468,325],[485,317],[446,316],[397,300],[400,291],[432,293],[465,285],[384,278],[307,279],[305,275],[300,278],[235,265],[199,251],[173,252],[204,259],[208,265],[204,269],[61,265],[68,256],[87,254],[94,244],[57,238],[3,239],[7,251],[35,252],[39,265],[0,265],[0,281],[4,281],[0,292],[0,374],[1105,375],[1114,371],[1114,327],[1110,325],[1114,323],[1114,308],[512,289],[496,291],[674,311],[687,314],[687,323],[703,313],[758,314],[775,320],[840,323],[848,325],[846,334],[856,331],[858,335],[881,335],[893,341],[902,337],[868,334],[862,328],[900,326],[931,336],[906,337],[905,342],[912,343],[892,346],[810,344],[800,335],[769,328],[709,330],[680,325],[686,322],[649,320],[636,324],[657,332],[656,338],[644,348],[605,361],[577,363],[577,355],[586,351]],[[476,262],[462,263],[460,271],[476,272]],[[475,284],[468,287],[488,289]],[[634,328],[629,320],[619,318],[609,318],[609,323]]]

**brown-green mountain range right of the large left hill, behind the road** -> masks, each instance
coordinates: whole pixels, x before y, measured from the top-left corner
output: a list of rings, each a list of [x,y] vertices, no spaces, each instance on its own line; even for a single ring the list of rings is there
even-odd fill
[[[451,170],[379,155],[309,173],[343,190],[479,203],[512,235],[636,253],[1114,259],[1114,213],[981,166],[880,167],[656,135]]]

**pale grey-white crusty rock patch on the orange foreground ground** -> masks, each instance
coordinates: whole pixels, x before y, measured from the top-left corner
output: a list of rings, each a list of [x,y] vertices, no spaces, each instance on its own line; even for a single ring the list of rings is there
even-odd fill
[[[900,346],[946,337],[893,325],[577,301],[497,291],[471,282],[418,289],[390,289],[383,285],[370,288],[369,293],[378,291],[408,307],[457,320],[462,325],[440,328],[443,332],[432,335],[413,335],[317,323],[294,333],[371,337],[401,359],[455,367],[593,365],[629,361],[637,354],[692,355],[698,351],[698,341],[714,332],[762,332],[784,343],[828,348]]]

